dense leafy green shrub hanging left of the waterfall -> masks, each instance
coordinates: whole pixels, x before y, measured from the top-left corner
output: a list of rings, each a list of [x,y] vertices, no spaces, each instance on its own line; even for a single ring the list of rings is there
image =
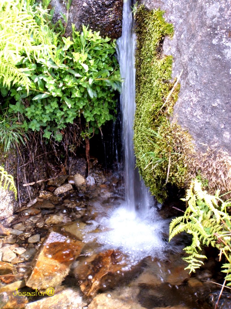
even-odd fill
[[[17,6],[15,3],[12,0],[12,7]],[[31,35],[38,50],[35,52],[30,45],[20,49],[16,69],[24,74],[25,81],[13,76],[6,83],[2,74],[0,89],[9,104],[8,113],[23,115],[25,131],[43,128],[43,137],[56,141],[62,140],[62,129],[81,115],[82,136],[97,133],[116,113],[114,95],[120,89],[120,73],[113,56],[115,41],[101,38],[99,32],[93,33],[85,26],[79,33],[74,25],[72,37],[66,38],[63,24],[52,25],[51,16],[41,4],[29,5],[23,0],[17,3],[19,11],[33,18],[34,28],[28,31],[25,23],[22,37],[26,40]],[[8,52],[7,46],[4,50]]]

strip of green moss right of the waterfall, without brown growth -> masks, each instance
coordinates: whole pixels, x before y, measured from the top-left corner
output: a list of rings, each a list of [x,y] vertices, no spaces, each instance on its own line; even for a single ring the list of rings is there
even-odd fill
[[[140,6],[136,12],[136,114],[134,146],[137,166],[159,201],[167,197],[166,183],[184,187],[187,164],[182,155],[182,141],[192,149],[190,137],[176,123],[170,124],[178,98],[178,84],[166,104],[174,82],[171,80],[172,57],[162,56],[164,36],[173,35],[163,11],[148,11]],[[164,106],[163,106],[164,104]]]

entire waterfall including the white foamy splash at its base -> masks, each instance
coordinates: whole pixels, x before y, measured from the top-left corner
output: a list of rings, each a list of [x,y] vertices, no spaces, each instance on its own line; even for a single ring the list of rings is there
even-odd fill
[[[124,153],[124,199],[118,205],[107,209],[98,205],[102,212],[93,223],[98,224],[102,232],[97,241],[105,248],[119,248],[131,256],[131,263],[145,256],[160,256],[168,243],[162,240],[162,232],[168,229],[168,222],[160,219],[153,205],[148,188],[136,168],[133,146],[133,121],[135,103],[135,45],[131,0],[124,1],[122,36],[117,40],[117,52],[120,74],[123,78],[121,91],[122,141]],[[88,234],[86,236],[89,241]],[[95,234],[91,236],[95,238]]]

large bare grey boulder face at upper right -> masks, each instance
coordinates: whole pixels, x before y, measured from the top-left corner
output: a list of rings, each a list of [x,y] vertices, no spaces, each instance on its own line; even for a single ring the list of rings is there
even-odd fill
[[[164,54],[174,58],[172,77],[180,78],[174,118],[201,150],[223,148],[231,154],[231,1],[144,0],[165,11],[173,39]]]

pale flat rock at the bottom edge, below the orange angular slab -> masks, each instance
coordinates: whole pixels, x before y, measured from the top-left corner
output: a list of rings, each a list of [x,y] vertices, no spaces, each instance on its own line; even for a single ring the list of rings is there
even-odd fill
[[[52,290],[51,290],[52,292]],[[28,303],[25,309],[82,309],[85,303],[78,290],[68,288],[54,296],[39,299],[33,303]]]

